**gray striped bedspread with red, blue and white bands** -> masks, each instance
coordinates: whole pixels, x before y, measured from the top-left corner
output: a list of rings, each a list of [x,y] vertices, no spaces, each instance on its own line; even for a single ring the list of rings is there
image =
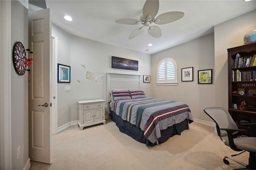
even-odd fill
[[[188,119],[192,123],[190,108],[185,103],[138,98],[112,101],[111,110],[144,131],[145,137],[155,143],[161,137],[160,130]]]

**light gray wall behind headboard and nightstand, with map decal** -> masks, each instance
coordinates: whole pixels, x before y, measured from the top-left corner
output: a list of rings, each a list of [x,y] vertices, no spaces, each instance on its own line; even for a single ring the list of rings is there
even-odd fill
[[[78,120],[77,101],[107,100],[107,73],[150,75],[149,54],[72,36],[55,25],[52,25],[52,34],[58,37],[58,63],[70,65],[71,70],[70,83],[58,83],[58,127]],[[112,56],[137,60],[138,71],[112,69]],[[87,71],[102,75],[102,81],[98,83],[87,79]],[[70,91],[64,91],[65,86],[70,86]],[[150,83],[142,81],[141,89],[151,97]]]

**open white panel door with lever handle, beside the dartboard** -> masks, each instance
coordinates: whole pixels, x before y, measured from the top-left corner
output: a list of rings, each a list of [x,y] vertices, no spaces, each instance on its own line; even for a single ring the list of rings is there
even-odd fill
[[[29,48],[33,51],[28,73],[29,157],[52,163],[51,130],[51,13],[50,9],[29,12]],[[47,106],[48,104],[48,106]],[[40,106],[43,105],[43,106]]]

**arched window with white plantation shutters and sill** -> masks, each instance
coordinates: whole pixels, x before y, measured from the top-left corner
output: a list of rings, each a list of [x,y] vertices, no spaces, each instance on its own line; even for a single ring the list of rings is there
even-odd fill
[[[157,85],[178,85],[177,64],[172,58],[162,59],[157,66]]]

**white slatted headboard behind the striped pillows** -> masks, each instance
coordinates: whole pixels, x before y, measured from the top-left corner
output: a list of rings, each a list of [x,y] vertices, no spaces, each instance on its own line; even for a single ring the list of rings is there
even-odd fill
[[[107,102],[111,90],[140,89],[140,75],[107,73]]]

